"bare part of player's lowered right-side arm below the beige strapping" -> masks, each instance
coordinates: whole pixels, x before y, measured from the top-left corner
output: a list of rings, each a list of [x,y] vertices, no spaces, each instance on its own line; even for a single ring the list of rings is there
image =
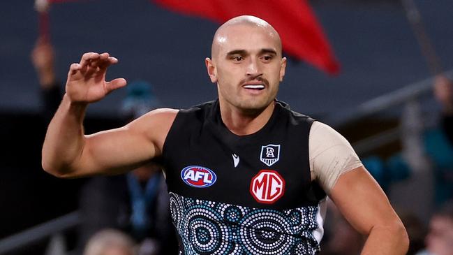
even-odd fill
[[[342,173],[329,197],[350,224],[368,236],[362,255],[406,254],[406,228],[364,166]]]

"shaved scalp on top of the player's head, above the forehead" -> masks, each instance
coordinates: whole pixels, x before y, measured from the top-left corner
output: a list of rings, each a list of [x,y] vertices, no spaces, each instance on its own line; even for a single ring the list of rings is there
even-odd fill
[[[256,27],[257,29],[262,29],[265,31],[271,38],[274,38],[277,45],[278,53],[281,56],[281,40],[279,33],[265,20],[260,19],[259,17],[243,15],[238,17],[233,17],[231,20],[223,23],[218,27],[216,34],[214,34],[214,39],[212,40],[211,46],[211,58],[213,60],[218,56],[219,49],[221,45],[225,43],[228,39],[228,35],[232,33],[232,29],[237,26],[250,26]]]

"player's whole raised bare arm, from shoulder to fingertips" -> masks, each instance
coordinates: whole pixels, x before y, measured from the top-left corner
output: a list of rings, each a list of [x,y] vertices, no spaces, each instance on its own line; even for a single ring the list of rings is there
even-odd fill
[[[161,154],[177,110],[154,110],[119,129],[84,135],[87,105],[126,85],[122,78],[105,81],[107,67],[117,61],[108,53],[90,52],[70,66],[66,94],[43,144],[42,164],[48,173],[58,177],[122,173]]]

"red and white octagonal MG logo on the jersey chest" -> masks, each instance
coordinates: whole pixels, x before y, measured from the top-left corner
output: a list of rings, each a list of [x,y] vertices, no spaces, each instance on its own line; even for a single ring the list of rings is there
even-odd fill
[[[258,203],[272,204],[285,193],[285,180],[274,170],[260,170],[252,178],[250,193]]]

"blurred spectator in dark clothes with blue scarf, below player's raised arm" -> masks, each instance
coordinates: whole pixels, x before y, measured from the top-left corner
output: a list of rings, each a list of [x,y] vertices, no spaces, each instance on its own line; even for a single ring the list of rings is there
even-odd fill
[[[80,194],[79,246],[102,228],[117,228],[142,244],[142,255],[176,254],[169,199],[155,163],[126,175],[91,178]]]

